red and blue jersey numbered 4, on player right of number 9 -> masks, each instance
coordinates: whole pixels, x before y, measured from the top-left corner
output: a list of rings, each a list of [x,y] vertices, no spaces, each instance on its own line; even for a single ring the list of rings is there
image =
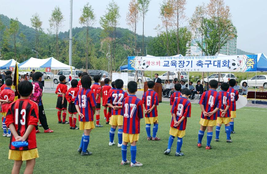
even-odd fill
[[[212,112],[215,108],[221,108],[221,97],[216,90],[210,89],[209,91],[203,92],[199,104],[204,105],[204,109],[207,113]],[[201,118],[207,120],[217,120],[217,113],[211,115],[210,117],[204,116],[203,112],[201,112]]]

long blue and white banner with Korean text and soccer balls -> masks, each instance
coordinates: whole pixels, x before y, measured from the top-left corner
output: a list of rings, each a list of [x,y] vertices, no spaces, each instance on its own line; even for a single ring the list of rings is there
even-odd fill
[[[128,56],[128,70],[188,72],[256,72],[256,55],[234,56]]]

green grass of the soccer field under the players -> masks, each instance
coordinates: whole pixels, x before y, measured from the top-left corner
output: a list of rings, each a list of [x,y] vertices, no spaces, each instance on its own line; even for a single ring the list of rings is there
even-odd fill
[[[100,123],[103,128],[95,128],[90,135],[88,150],[91,156],[81,157],[77,152],[81,141],[81,130],[70,130],[69,125],[57,123],[56,95],[44,94],[43,103],[48,126],[54,133],[37,134],[39,158],[36,160],[34,173],[266,173],[267,156],[267,109],[244,107],[237,110],[235,119],[235,134],[231,134],[233,143],[226,143],[224,126],[220,133],[220,142],[215,142],[215,128],[211,145],[213,149],[197,148],[200,107],[192,104],[191,118],[188,118],[186,135],[183,138],[182,152],[184,156],[175,157],[176,141],[172,145],[172,152],[163,154],[168,144],[170,129],[170,105],[160,103],[159,130],[157,136],[161,141],[147,141],[145,120],[141,120],[141,133],[137,143],[137,161],[143,167],[130,168],[121,166],[121,148],[117,147],[117,130],[115,145],[109,146],[110,125],[105,124],[103,108],[101,108]],[[265,121],[264,121],[265,120]],[[79,126],[79,123],[77,124]],[[152,128],[151,128],[152,133]],[[204,134],[202,144],[206,145]],[[264,138],[265,137],[265,138]],[[8,160],[8,145],[10,139],[0,137],[0,173],[10,173],[14,162]],[[177,140],[177,139],[176,139]],[[128,160],[130,147],[127,151]],[[25,162],[21,171],[25,169]],[[265,171],[265,172],[264,172]],[[22,173],[22,172],[21,172]]]

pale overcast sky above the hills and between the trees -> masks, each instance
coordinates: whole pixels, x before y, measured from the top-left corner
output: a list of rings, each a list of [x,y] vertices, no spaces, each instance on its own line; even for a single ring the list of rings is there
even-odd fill
[[[126,14],[128,12],[128,4],[130,0],[114,0],[120,7],[121,19],[119,27],[129,28],[126,25]],[[109,0],[73,0],[73,23],[72,27],[80,27],[79,16],[81,9],[89,2],[94,8],[96,14],[95,27],[100,27],[99,18],[105,13],[106,5]],[[157,32],[154,28],[161,23],[159,16],[159,7],[162,0],[151,0],[149,12],[145,18],[145,35],[156,36]],[[187,0],[186,15],[191,17],[195,6],[200,5],[202,2],[208,3],[209,0]],[[23,0],[23,1],[10,1],[0,0],[1,14],[8,17],[18,17],[18,20],[30,26],[30,18],[34,13],[39,13],[43,21],[42,28],[49,27],[48,19],[55,6],[59,6],[64,15],[64,27],[61,31],[69,29],[69,14],[70,9],[69,0]],[[259,53],[264,52],[267,54],[267,1],[266,0],[225,0],[225,4],[230,6],[232,20],[237,28],[237,48],[247,52]],[[187,23],[184,23],[187,25]],[[137,26],[137,33],[142,34],[142,21],[140,20]]]

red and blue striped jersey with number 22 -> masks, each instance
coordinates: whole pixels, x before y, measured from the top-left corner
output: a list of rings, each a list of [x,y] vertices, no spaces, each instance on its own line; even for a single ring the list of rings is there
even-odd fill
[[[122,106],[122,101],[127,96],[127,92],[124,92],[122,89],[116,89],[115,91],[112,91],[108,96],[107,103],[110,103],[113,106]],[[112,108],[111,115],[123,115],[123,111],[122,109],[114,110]]]

